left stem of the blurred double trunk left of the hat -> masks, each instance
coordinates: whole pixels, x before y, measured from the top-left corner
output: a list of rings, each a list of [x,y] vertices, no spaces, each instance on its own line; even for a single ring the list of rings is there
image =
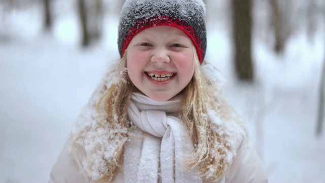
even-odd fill
[[[88,46],[90,43],[90,37],[88,33],[88,21],[87,21],[87,8],[85,0],[79,0],[79,18],[81,21],[82,30],[82,46]]]

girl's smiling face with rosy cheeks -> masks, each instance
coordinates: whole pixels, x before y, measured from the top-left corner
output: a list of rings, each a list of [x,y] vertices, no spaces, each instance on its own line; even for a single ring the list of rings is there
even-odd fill
[[[167,101],[193,76],[193,43],[178,28],[150,27],[129,43],[126,63],[129,78],[143,94],[155,101]]]

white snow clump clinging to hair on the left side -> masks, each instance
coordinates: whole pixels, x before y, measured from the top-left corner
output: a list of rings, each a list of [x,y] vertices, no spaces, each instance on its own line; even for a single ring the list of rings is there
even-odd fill
[[[116,63],[117,65],[118,63]],[[112,69],[117,66],[112,65]],[[122,73],[120,73],[122,74]],[[118,76],[113,70],[109,70],[102,82],[93,92],[88,104],[82,109],[81,113],[76,119],[72,129],[72,136],[76,148],[72,148],[73,154],[80,155],[80,152],[74,152],[75,149],[81,147],[84,149],[84,156],[80,158],[80,163],[87,176],[92,180],[102,178],[107,172],[107,162],[114,157],[116,147],[122,147],[126,141],[126,137],[116,137],[115,134],[127,133],[126,128],[116,128],[114,130],[106,126],[100,126],[99,120],[105,120],[105,113],[98,113],[96,105],[103,96],[105,90],[112,84],[120,81],[121,77]],[[121,81],[123,82],[123,81]]]

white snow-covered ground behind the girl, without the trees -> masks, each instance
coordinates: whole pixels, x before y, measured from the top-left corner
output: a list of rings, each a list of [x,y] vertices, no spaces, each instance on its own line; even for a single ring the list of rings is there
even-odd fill
[[[105,19],[100,44],[81,49],[72,12],[56,17],[51,34],[41,33],[38,13],[7,15],[0,20],[0,182],[47,182],[75,117],[119,57],[117,19]],[[234,79],[229,32],[209,27],[206,59],[228,80],[225,94],[270,182],[325,182],[325,136],[315,138],[323,35],[292,37],[282,57],[255,39],[249,85]]]

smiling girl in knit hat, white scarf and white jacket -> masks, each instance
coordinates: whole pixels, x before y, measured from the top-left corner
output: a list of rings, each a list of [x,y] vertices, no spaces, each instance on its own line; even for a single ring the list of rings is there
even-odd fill
[[[201,0],[127,0],[121,62],[78,116],[50,182],[267,182],[213,76]],[[201,66],[202,65],[202,66]]]

